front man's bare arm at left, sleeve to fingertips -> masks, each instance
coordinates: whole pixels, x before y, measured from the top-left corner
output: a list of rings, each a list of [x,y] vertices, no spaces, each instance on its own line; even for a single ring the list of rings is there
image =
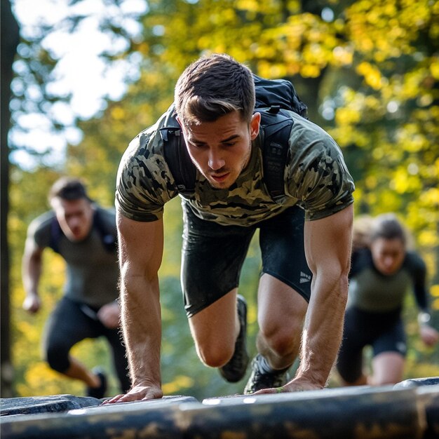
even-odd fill
[[[163,220],[137,222],[117,214],[121,269],[121,320],[131,390],[109,403],[161,398],[161,309],[158,269]]]

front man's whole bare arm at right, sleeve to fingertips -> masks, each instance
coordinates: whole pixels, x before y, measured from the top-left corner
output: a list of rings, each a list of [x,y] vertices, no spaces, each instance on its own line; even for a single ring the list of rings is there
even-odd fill
[[[313,272],[311,300],[302,333],[300,365],[281,391],[323,389],[342,341],[348,295],[353,206],[305,222],[305,252]],[[264,389],[257,393],[276,393]]]

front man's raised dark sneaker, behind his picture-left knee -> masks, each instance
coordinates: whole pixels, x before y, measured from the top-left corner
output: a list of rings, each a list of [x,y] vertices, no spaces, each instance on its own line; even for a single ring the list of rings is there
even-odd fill
[[[219,367],[219,373],[229,383],[236,383],[243,379],[247,370],[248,362],[250,360],[247,347],[247,304],[243,296],[237,297],[238,319],[241,330],[235,343],[234,355],[229,360],[229,363]]]

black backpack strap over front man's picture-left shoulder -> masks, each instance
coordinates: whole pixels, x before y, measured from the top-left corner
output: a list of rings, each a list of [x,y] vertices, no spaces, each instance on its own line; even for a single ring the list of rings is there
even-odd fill
[[[187,147],[184,144],[182,130],[176,119],[175,106],[168,109],[160,135],[163,140],[163,152],[179,194],[190,196],[194,194],[196,168],[191,161]]]

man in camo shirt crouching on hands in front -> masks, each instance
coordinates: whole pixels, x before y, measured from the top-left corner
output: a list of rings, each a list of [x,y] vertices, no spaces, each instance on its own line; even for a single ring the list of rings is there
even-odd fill
[[[247,67],[227,55],[199,59],[177,82],[175,109],[197,168],[194,194],[182,195],[182,288],[199,358],[219,367],[227,381],[245,375],[246,306],[237,287],[259,228],[259,353],[245,393],[322,389],[341,340],[351,252],[353,182],[339,147],[291,112],[286,196],[279,204],[262,178],[261,115],[254,113]],[[163,205],[177,196],[159,133],[165,119],[133,140],[118,173],[122,322],[132,388],[110,403],[163,396],[157,272]],[[300,367],[286,382],[299,350]]]

